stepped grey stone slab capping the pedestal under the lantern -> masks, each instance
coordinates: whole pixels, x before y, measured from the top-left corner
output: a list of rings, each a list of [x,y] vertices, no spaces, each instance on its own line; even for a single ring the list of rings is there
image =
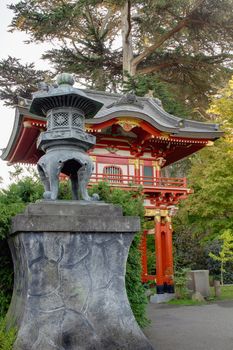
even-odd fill
[[[118,206],[105,203],[39,202],[12,220],[10,234],[17,232],[106,232],[140,231],[138,217],[123,216]]]

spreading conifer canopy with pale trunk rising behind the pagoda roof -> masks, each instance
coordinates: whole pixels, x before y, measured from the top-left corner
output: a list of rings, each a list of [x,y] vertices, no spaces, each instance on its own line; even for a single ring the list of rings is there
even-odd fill
[[[90,88],[116,91],[123,72],[156,75],[204,108],[229,71],[232,0],[27,0],[10,9],[12,31],[52,42],[43,58]]]

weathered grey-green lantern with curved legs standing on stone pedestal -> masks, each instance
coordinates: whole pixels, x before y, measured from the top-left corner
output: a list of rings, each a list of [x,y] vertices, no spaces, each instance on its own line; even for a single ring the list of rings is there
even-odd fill
[[[37,168],[47,200],[58,198],[61,172],[71,180],[73,199],[98,199],[87,192],[93,162],[86,152],[95,145],[96,138],[85,132],[85,117],[92,118],[103,104],[73,84],[72,75],[67,73],[57,77],[57,85],[40,83],[30,106],[31,113],[47,119],[47,130],[37,141],[37,147],[45,152]]]

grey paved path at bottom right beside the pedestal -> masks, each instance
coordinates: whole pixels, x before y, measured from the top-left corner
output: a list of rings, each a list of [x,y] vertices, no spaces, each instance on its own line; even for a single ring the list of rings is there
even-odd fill
[[[145,334],[155,350],[233,350],[233,301],[149,304]]]

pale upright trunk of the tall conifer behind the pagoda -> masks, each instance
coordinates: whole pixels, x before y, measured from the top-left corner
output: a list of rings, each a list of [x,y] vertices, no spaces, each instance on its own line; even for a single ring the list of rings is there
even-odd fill
[[[126,72],[135,75],[136,69],[132,67],[133,47],[130,19],[130,0],[127,0],[121,8],[121,35],[123,50],[123,80],[127,80]]]

